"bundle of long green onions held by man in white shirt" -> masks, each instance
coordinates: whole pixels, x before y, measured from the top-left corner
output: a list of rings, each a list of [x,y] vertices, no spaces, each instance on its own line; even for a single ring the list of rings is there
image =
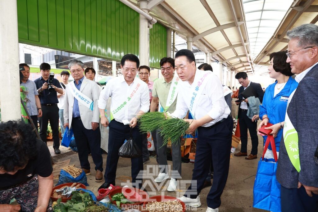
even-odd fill
[[[178,142],[178,139],[186,134],[189,126],[189,122],[173,118],[169,114],[161,112],[145,113],[139,119],[139,129],[142,133],[161,130],[163,146],[168,143],[169,139],[171,140],[171,145]]]

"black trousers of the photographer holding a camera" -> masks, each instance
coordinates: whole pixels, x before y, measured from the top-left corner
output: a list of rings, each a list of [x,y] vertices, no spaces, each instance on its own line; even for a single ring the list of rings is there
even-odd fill
[[[53,148],[59,148],[59,107],[58,105],[41,106],[42,117],[39,117],[40,137],[46,143],[47,125],[50,125],[53,133]]]

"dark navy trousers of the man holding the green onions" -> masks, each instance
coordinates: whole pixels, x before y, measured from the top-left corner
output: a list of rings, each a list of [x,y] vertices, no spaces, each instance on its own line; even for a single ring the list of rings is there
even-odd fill
[[[212,127],[198,127],[197,151],[194,161],[192,183],[184,196],[197,198],[210,171],[213,157],[214,176],[207,195],[207,205],[218,208],[225,187],[230,166],[233,120],[229,116],[225,121]]]

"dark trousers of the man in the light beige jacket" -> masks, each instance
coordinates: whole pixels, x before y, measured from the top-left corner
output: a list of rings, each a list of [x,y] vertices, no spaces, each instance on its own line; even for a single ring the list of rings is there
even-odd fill
[[[96,130],[86,129],[80,118],[72,119],[72,128],[75,143],[79,153],[79,162],[81,168],[91,169],[88,162],[88,153],[90,151],[92,154],[93,162],[95,164],[95,170],[103,171],[103,157],[101,156],[100,150],[100,128],[97,127]]]

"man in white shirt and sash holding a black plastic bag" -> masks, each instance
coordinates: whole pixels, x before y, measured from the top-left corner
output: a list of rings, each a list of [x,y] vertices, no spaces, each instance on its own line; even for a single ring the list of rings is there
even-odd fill
[[[122,76],[110,79],[100,94],[98,107],[100,109],[101,124],[109,126],[108,153],[105,170],[105,183],[100,188],[115,185],[116,169],[119,159],[118,150],[125,140],[132,136],[139,149],[142,149],[142,134],[137,126],[137,119],[149,111],[148,85],[141,79],[135,78],[139,67],[139,59],[133,54],[121,58]],[[105,116],[107,100],[111,97],[110,117]],[[130,123],[125,125],[123,122]],[[143,170],[142,156],[131,159],[131,177],[133,186],[142,187],[142,179],[136,181],[139,172]]]

